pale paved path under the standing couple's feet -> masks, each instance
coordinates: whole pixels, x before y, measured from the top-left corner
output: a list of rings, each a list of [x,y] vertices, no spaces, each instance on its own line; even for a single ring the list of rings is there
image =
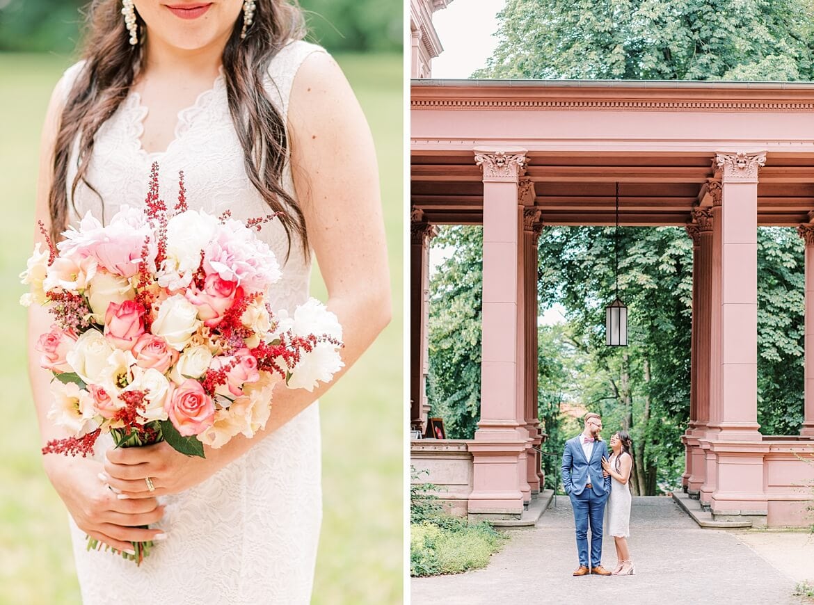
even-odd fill
[[[628,543],[635,575],[573,577],[579,563],[571,503],[566,496],[555,500],[535,529],[512,530],[511,541],[487,568],[455,576],[412,578],[410,603],[811,603],[794,597],[794,580],[772,567],[737,533],[698,528],[666,497],[633,498]],[[606,538],[602,564],[613,569],[615,563],[613,538]]]

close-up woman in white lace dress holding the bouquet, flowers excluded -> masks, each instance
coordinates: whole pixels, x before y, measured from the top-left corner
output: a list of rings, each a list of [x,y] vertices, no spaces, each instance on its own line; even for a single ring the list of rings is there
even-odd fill
[[[304,302],[316,255],[344,328],[344,372],[390,319],[379,179],[348,82],[303,35],[289,0],[92,2],[84,59],[46,115],[36,218],[56,238],[86,211],[105,221],[142,205],[154,161],[168,202],[183,170],[190,208],[239,219],[282,211],[260,232],[285,263],[270,302]],[[49,326],[30,307],[29,350]],[[29,357],[42,441],[66,437],[46,416],[49,376]],[[207,447],[205,459],[110,442],[95,459],[44,457],[71,517],[83,601],[309,603],[325,390],[276,390],[265,431]],[[156,546],[137,567],[86,551],[85,536]]]

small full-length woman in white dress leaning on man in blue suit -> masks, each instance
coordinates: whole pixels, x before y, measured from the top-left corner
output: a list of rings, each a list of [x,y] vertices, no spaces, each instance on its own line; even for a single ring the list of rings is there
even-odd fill
[[[617,564],[612,572],[615,576],[628,576],[636,572],[628,549],[631,503],[628,481],[633,468],[630,447],[630,435],[619,431],[610,437],[610,450],[613,452],[610,459],[602,458],[602,468],[610,473],[611,477],[610,496],[605,509],[607,514],[605,527],[607,533],[613,536],[616,546]]]

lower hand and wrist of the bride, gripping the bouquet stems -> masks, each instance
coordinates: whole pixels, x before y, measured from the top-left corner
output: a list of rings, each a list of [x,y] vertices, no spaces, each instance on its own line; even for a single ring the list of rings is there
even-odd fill
[[[130,542],[147,542],[162,533],[160,529],[141,529],[164,516],[164,507],[155,498],[123,500],[99,478],[101,463],[85,458],[54,456],[46,472],[55,490],[79,529],[99,542],[119,551],[133,552]]]

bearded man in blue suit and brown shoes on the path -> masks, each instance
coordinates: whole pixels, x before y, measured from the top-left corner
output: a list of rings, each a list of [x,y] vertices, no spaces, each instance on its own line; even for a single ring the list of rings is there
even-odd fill
[[[602,458],[608,458],[608,449],[599,433],[602,418],[589,412],[585,415],[582,433],[569,439],[562,453],[562,485],[571,498],[576,524],[576,550],[580,567],[575,576],[594,573],[610,576],[600,564],[602,560],[602,519],[605,503],[610,494],[610,475],[602,472]],[[591,526],[591,552],[588,553],[588,526]]]

